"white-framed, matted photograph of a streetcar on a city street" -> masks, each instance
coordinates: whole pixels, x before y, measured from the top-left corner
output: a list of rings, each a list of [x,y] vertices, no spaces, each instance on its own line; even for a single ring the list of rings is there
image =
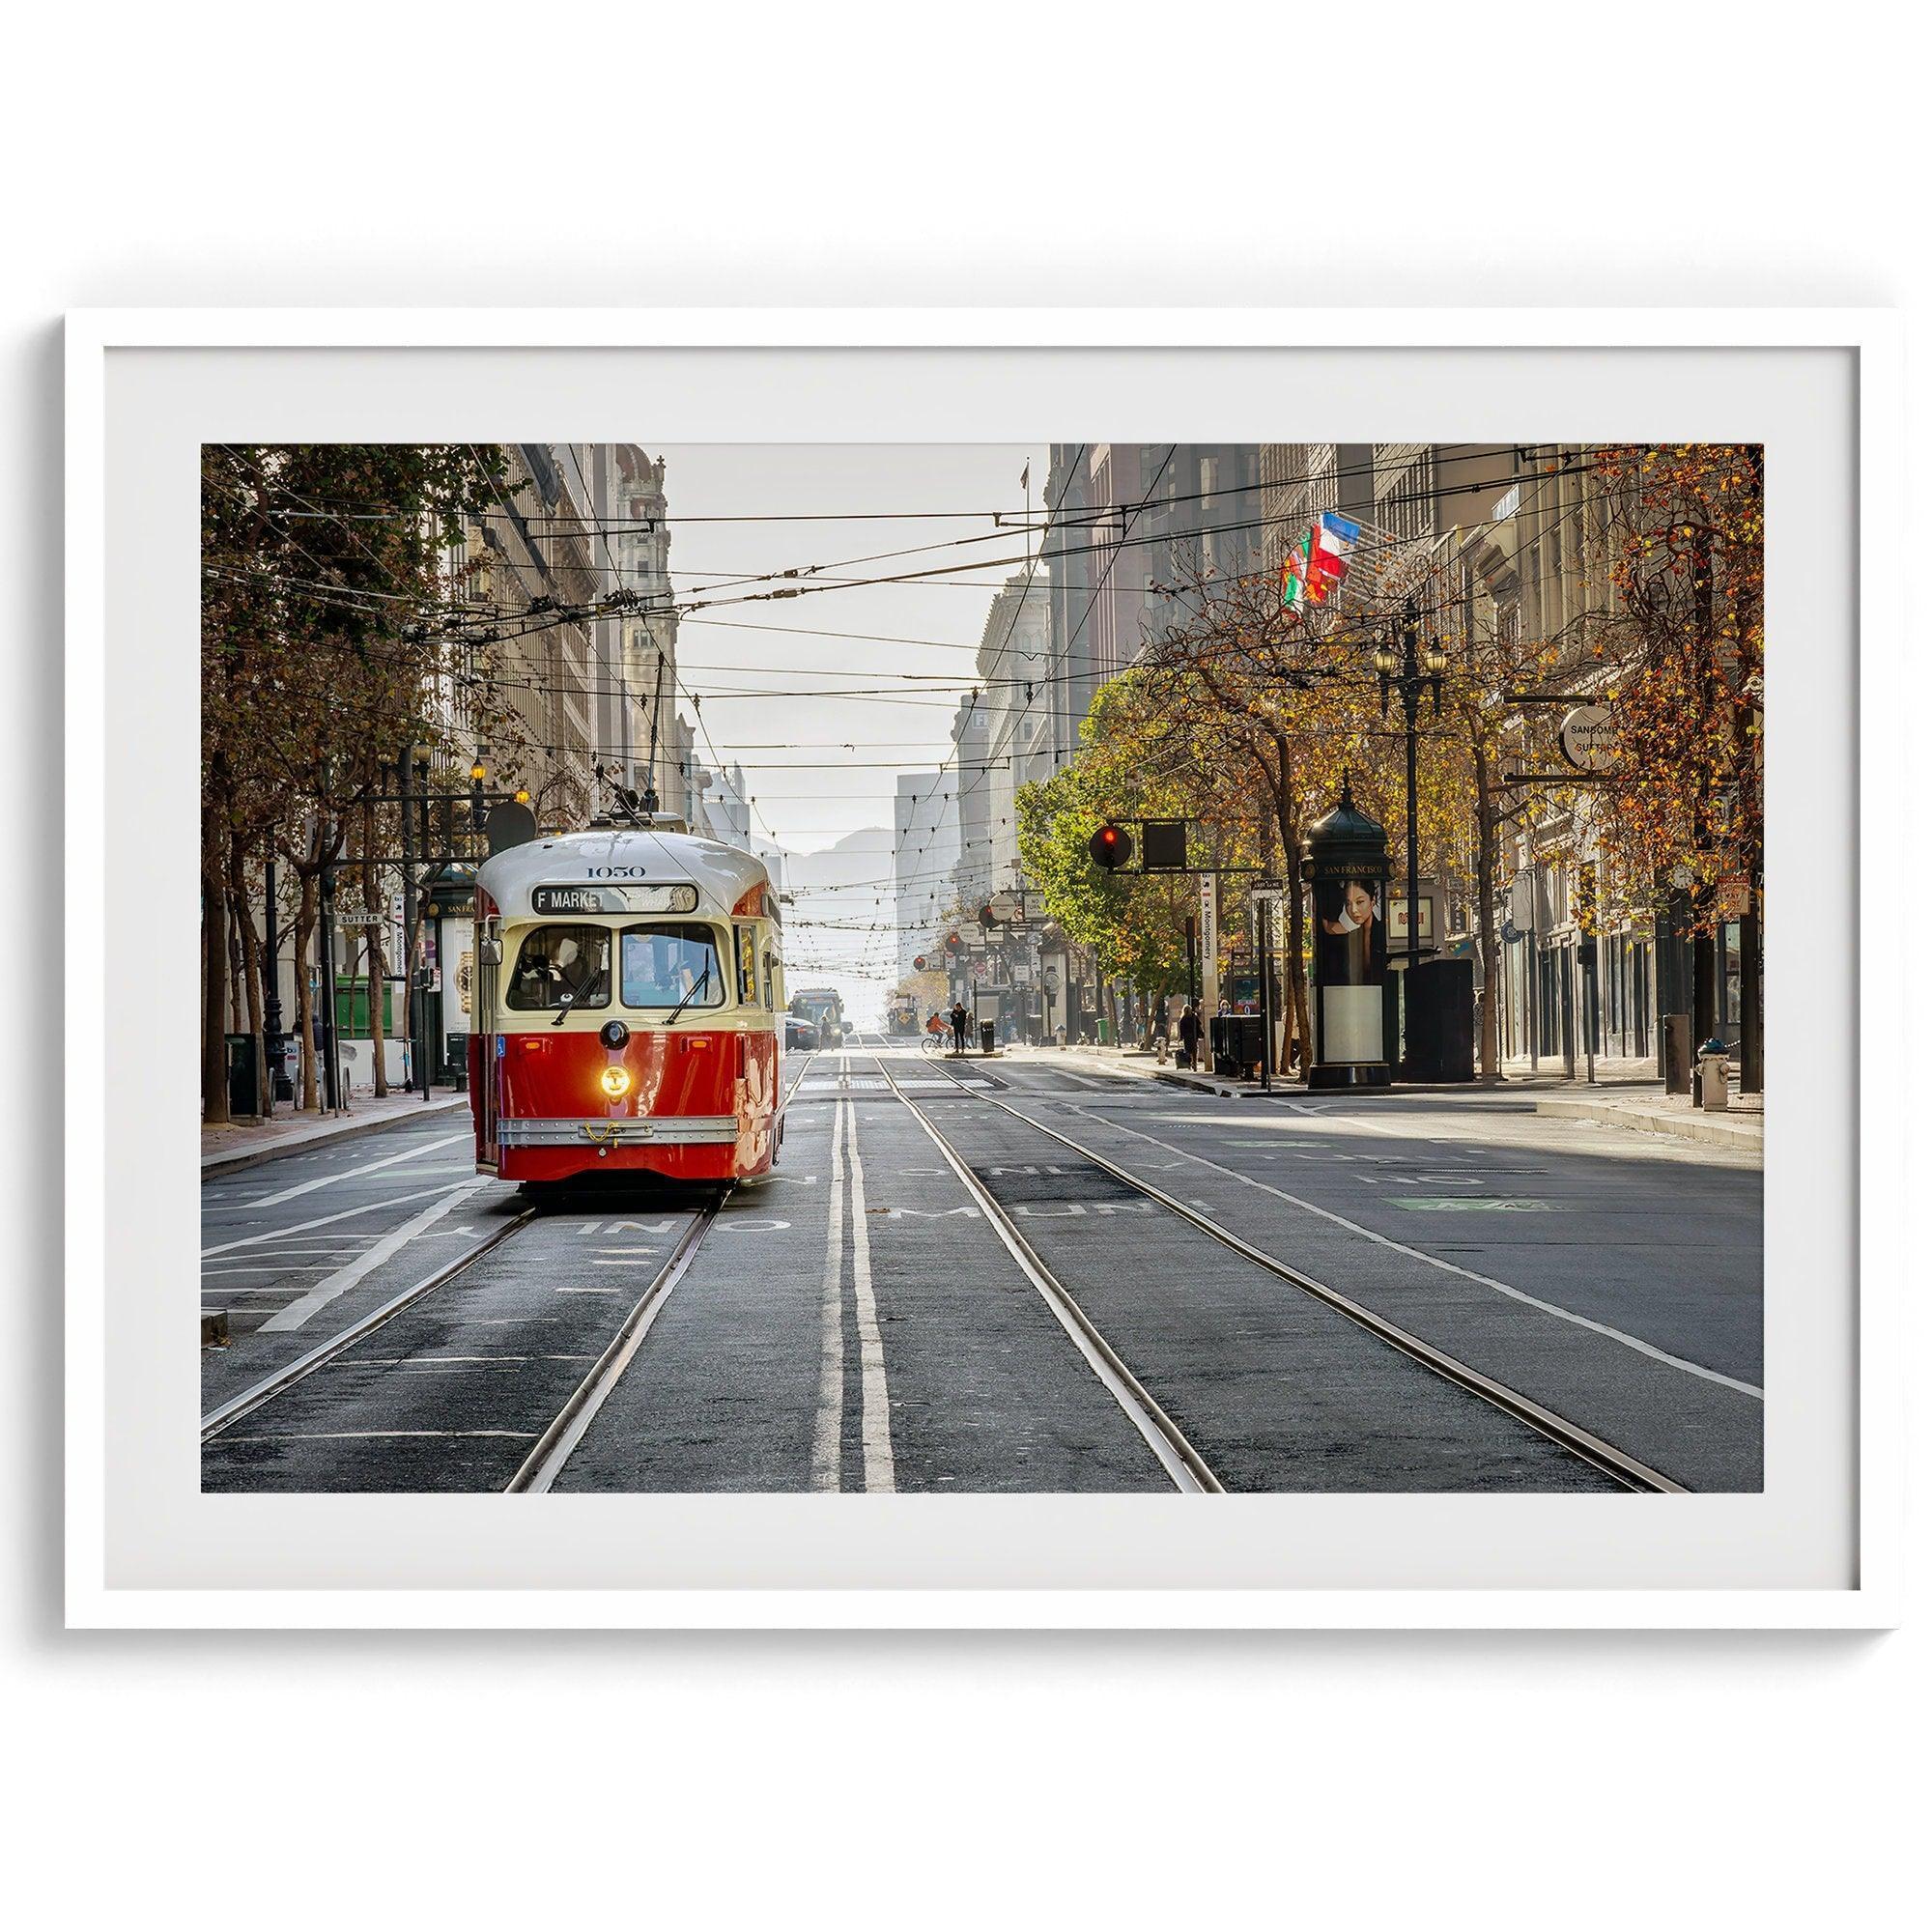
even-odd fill
[[[70,1623],[1893,1621],[1899,412],[71,315]]]

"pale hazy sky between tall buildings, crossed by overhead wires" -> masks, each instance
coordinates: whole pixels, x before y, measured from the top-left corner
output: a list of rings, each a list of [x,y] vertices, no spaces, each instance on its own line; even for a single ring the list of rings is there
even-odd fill
[[[947,755],[952,709],[976,682],[974,653],[993,591],[1024,570],[1032,541],[1022,531],[997,531],[993,514],[1024,520],[1020,471],[1028,460],[1039,514],[1047,446],[670,444],[651,454],[665,458],[672,587],[680,601],[717,601],[717,609],[682,620],[678,678],[701,701],[717,752],[744,761],[753,827],[794,852],[825,850],[873,829],[862,850],[875,864],[864,875],[889,879],[895,779]],[[838,520],[838,512],[864,512],[866,520]],[[800,522],[688,522],[713,516]],[[962,537],[985,541],[914,556],[877,554]],[[925,583],[837,585],[773,603],[724,603],[775,587],[724,587],[724,578],[813,566],[823,578],[943,574]],[[908,674],[920,682],[898,684]],[[690,697],[682,709],[690,715]],[[798,943],[786,951],[800,964],[848,964],[852,983],[844,983],[846,974],[817,976],[842,981],[850,1010],[862,993],[860,968],[889,960],[891,949],[862,933],[806,925],[833,916],[889,920],[891,891],[819,895],[810,902],[802,896],[794,908]],[[796,970],[792,983],[802,983]],[[875,1014],[883,987],[866,980],[864,991],[866,1012]]]

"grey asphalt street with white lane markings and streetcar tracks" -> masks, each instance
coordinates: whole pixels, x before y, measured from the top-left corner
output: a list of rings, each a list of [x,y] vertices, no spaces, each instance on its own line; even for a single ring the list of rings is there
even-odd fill
[[[1227,1490],[1615,1486],[1082,1148],[1687,1488],[1762,1486],[1762,1188],[1727,1150],[1490,1094],[1219,1099],[869,1036],[804,1066],[779,1173],[657,1293],[709,1196],[533,1208],[466,1130],[203,1188],[203,1308],[236,1335],[203,1350],[205,1412],[479,1254],[214,1434],[207,1488],[500,1490],[589,1379],[560,1490],[1171,1492],[1080,1316]]]

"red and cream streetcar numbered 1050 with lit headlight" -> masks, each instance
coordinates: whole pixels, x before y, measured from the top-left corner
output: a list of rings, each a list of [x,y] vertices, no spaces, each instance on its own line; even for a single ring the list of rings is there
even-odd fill
[[[477,1169],[732,1182],[784,1136],[779,902],[750,852],[657,827],[477,869]]]

